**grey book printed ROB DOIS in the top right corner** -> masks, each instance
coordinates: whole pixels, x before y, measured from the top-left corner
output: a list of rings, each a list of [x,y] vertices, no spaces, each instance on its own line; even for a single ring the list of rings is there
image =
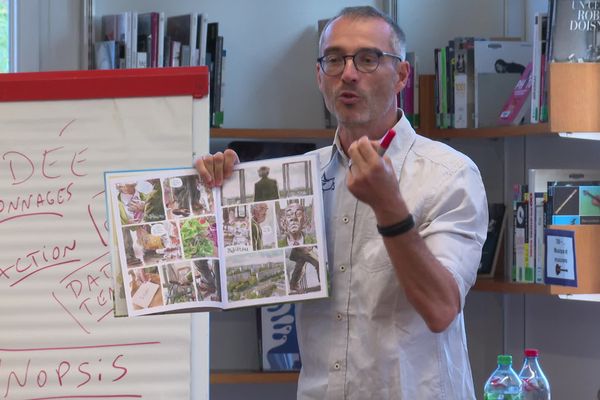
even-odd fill
[[[552,2],[552,62],[600,62],[600,9],[596,1]]]

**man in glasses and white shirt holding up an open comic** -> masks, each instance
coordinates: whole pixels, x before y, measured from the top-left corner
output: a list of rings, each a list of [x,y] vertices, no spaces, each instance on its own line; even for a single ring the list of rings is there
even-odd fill
[[[298,308],[298,398],[474,399],[462,309],[487,230],[479,171],[396,109],[410,66],[389,18],[344,9],[319,52],[317,82],[338,120],[318,151],[323,180],[338,182],[323,192],[332,297]],[[235,161],[226,151],[196,167],[220,185]]]

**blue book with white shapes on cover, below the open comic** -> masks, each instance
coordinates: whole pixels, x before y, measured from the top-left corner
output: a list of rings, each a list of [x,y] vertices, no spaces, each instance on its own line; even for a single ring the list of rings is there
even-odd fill
[[[295,304],[275,304],[258,310],[258,340],[263,371],[300,371]]]

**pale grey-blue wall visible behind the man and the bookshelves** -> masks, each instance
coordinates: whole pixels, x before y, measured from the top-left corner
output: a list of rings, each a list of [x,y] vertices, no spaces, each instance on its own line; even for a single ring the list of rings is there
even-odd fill
[[[314,84],[316,21],[335,14],[343,0],[96,0],[97,11],[165,10],[171,14],[205,11],[219,21],[227,49],[225,115],[227,127],[320,128],[322,102]],[[367,4],[383,5],[383,1]],[[387,2],[385,2],[387,4]],[[76,69],[82,57],[79,0],[20,0],[19,66],[22,71]],[[108,4],[108,5],[107,5]],[[50,7],[51,5],[51,7]],[[433,71],[433,48],[458,35],[531,38],[531,18],[545,0],[398,1],[398,19],[422,72]],[[136,7],[140,8],[136,8]],[[143,8],[141,8],[143,6]],[[600,144],[553,136],[498,140],[452,139],[450,145],[479,165],[488,197],[510,199],[512,183],[524,182],[527,168],[598,168]],[[600,143],[600,142],[599,142]],[[600,267],[600,266],[599,266]],[[516,364],[525,346],[537,346],[555,399],[594,399],[600,388],[600,305],[540,295],[472,292],[465,309],[468,343],[478,395],[495,367],[498,353],[512,353]],[[254,314],[213,314],[212,364],[218,368],[256,368]],[[244,335],[231,336],[241,331]],[[216,332],[216,334],[215,334]],[[295,385],[223,385],[213,398],[293,398]]]

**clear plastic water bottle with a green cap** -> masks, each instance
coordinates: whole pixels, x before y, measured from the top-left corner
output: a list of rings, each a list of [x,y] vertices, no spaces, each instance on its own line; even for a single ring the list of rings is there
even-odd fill
[[[483,388],[484,400],[521,400],[521,379],[512,368],[512,356],[498,356],[498,368]]]

